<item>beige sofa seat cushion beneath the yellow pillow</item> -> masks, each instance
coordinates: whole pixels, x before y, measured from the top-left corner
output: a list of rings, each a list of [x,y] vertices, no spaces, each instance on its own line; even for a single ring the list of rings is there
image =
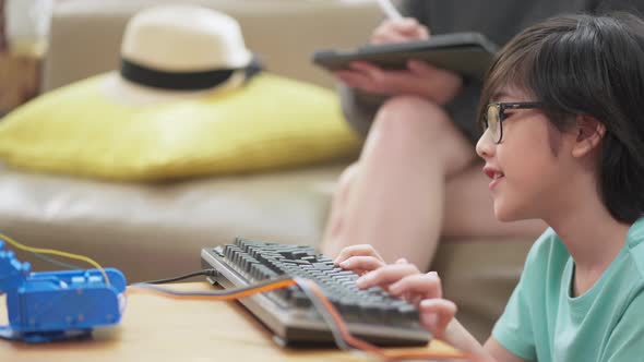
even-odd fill
[[[345,166],[129,184],[0,167],[0,232],[29,246],[87,255],[128,281],[201,268],[202,248],[235,237],[317,245],[330,185]],[[17,252],[36,270],[56,269]],[[81,263],[72,262],[82,267]]]

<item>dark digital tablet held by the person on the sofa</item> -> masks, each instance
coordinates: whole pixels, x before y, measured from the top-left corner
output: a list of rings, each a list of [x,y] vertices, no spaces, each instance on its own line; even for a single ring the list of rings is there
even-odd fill
[[[347,69],[349,62],[369,61],[383,69],[405,69],[407,60],[425,60],[463,76],[482,79],[499,47],[480,33],[432,35],[427,40],[368,45],[356,50],[323,49],[313,63],[329,71]]]

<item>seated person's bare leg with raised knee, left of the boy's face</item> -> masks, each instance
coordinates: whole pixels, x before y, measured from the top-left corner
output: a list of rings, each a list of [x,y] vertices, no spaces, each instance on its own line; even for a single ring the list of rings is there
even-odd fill
[[[385,261],[404,256],[429,265],[443,224],[445,180],[474,159],[473,145],[439,106],[390,99],[334,197],[322,251],[336,255],[369,243]]]

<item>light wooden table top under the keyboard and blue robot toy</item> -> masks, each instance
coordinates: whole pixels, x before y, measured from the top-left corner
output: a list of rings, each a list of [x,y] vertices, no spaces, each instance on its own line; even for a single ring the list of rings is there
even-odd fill
[[[206,282],[174,285],[208,290]],[[0,325],[7,307],[0,297]],[[396,349],[402,351],[403,349]],[[440,341],[414,351],[453,351]],[[28,345],[0,339],[0,361],[366,361],[335,349],[289,349],[237,302],[172,300],[130,293],[121,324],[97,328],[90,339]]]

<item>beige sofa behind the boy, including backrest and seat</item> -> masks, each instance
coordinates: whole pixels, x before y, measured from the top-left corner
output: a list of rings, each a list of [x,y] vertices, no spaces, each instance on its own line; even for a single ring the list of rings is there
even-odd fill
[[[41,92],[118,68],[124,25],[171,1],[67,0],[53,11]],[[236,17],[247,46],[276,74],[334,87],[310,62],[318,48],[363,44],[381,20],[377,0],[194,1]],[[80,31],[82,29],[82,31]],[[141,281],[200,269],[202,248],[235,237],[318,245],[339,172],[351,159],[245,176],[114,183],[0,169],[0,231],[39,248],[93,257]],[[532,240],[458,238],[436,263],[445,295],[479,339],[517,281]],[[56,265],[19,253],[34,269]]]

